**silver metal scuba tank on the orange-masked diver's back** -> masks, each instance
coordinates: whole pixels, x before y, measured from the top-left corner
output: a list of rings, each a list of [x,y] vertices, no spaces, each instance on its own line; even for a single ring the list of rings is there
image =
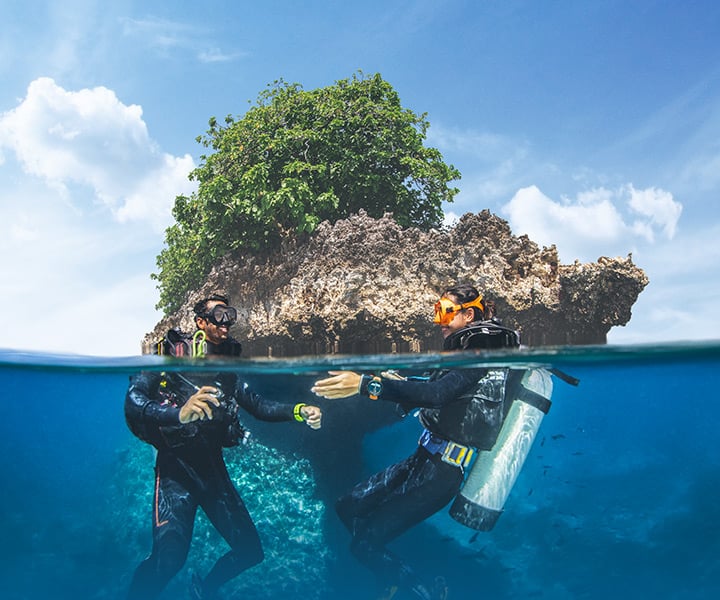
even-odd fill
[[[472,529],[490,531],[495,526],[550,410],[553,382],[547,370],[528,369],[517,389],[514,398],[506,398],[510,409],[495,445],[478,452],[450,507],[450,516]]]

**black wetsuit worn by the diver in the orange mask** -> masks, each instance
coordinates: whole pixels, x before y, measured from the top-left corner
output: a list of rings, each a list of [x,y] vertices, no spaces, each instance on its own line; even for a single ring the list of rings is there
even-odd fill
[[[494,378],[494,381],[491,379]],[[380,400],[406,411],[421,407],[420,421],[436,438],[476,449],[495,443],[505,413],[507,372],[440,371],[426,381],[382,380]],[[367,394],[367,379],[361,393]],[[405,460],[356,485],[340,498],[337,513],[352,534],[353,555],[378,577],[381,587],[401,586],[430,597],[412,570],[386,544],[424,521],[459,492],[462,467],[418,445]]]

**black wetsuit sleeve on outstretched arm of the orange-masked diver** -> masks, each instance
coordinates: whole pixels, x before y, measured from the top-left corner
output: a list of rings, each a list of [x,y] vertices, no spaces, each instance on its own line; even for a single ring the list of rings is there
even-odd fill
[[[471,390],[487,373],[487,369],[453,369],[437,379],[425,381],[382,379],[378,400],[396,402],[403,408],[439,408]],[[369,396],[371,378],[363,375],[360,394]]]

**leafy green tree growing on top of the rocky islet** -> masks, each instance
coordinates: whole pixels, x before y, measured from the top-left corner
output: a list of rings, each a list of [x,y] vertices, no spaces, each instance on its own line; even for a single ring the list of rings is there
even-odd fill
[[[211,152],[190,174],[198,190],[176,198],[153,275],[166,313],[229,252],[273,250],[360,209],[428,229],[458,191],[448,184],[459,171],[423,145],[426,115],[403,108],[379,74],[312,91],[276,81],[242,119],[209,127],[197,141]]]

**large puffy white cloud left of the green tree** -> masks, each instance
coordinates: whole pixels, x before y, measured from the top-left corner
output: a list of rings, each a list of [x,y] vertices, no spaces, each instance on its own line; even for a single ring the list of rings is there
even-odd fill
[[[71,92],[36,79],[0,117],[3,146],[63,197],[71,197],[73,185],[87,186],[119,220],[147,220],[158,231],[171,222],[175,196],[195,188],[187,179],[192,158],[160,152],[142,108],[104,87]]]

